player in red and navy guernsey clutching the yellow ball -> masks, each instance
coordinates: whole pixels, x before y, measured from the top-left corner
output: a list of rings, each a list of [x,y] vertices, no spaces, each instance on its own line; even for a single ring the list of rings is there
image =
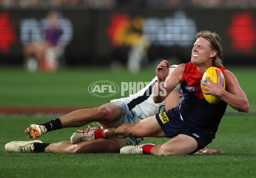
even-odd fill
[[[161,82],[166,81],[166,95],[154,95],[156,103],[163,102],[175,87],[181,83],[184,99],[180,106],[176,106],[166,112],[145,118],[138,123],[123,123],[121,125],[92,131],[87,134],[88,139],[101,138],[125,138],[125,137],[168,137],[172,140],[164,144],[141,144],[124,146],[121,153],[149,153],[154,155],[187,155],[203,149],[212,139],[218,129],[221,118],[224,115],[227,104],[240,112],[249,111],[249,103],[242,91],[236,77],[221,64],[221,38],[218,34],[209,31],[201,31],[196,34],[197,40],[192,49],[191,62],[180,64],[170,73],[169,63],[163,60],[157,66],[157,83],[154,91],[162,91]],[[211,66],[218,67],[223,72],[226,81],[226,90],[217,83],[202,82],[208,88],[204,94],[218,96],[221,101],[217,104],[208,103],[201,90],[201,78],[204,72]],[[190,90],[188,86],[194,89]],[[94,134],[93,134],[94,132]],[[86,140],[86,139],[85,139]],[[87,142],[87,141],[85,141]]]

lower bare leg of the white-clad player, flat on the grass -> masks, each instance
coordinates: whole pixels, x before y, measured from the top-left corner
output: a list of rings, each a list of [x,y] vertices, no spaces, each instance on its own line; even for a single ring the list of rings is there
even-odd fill
[[[114,138],[101,138],[97,140],[84,141],[79,144],[71,144],[70,141],[61,141],[49,144],[45,148],[45,152],[57,153],[103,153],[119,151],[119,143]]]

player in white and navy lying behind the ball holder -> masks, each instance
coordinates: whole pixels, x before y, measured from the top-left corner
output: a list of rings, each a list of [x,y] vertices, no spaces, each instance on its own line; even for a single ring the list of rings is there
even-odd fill
[[[170,67],[170,71],[175,66]],[[32,124],[26,132],[28,138],[38,138],[46,132],[67,128],[79,127],[88,123],[97,121],[103,128],[113,127],[121,123],[137,123],[144,118],[163,112],[166,109],[175,107],[183,100],[183,95],[180,93],[179,86],[166,98],[165,102],[154,103],[152,96],[152,88],[156,82],[157,77],[154,78],[140,92],[130,95],[128,98],[121,98],[111,100],[103,106],[93,109],[81,109],[71,112],[67,115],[57,118],[55,120],[44,123],[43,125]],[[148,91],[148,95],[147,94]],[[140,102],[138,102],[140,101]],[[99,130],[99,126],[91,126],[88,129],[80,129],[71,138],[70,141],[62,141],[59,143],[45,144],[41,141],[29,142],[10,142],[6,144],[5,149],[10,152],[60,152],[60,153],[98,153],[98,152],[119,152],[120,148],[130,144],[138,144],[144,138],[101,138],[97,140],[87,139],[87,135],[83,133],[94,133]],[[34,143],[35,142],[35,143]],[[38,143],[37,143],[38,142]],[[80,143],[81,142],[81,143]],[[221,152],[215,149],[202,149],[204,153]]]

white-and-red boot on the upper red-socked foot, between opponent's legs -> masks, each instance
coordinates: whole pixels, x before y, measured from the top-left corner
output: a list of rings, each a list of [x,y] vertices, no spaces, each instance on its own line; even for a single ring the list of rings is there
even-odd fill
[[[70,137],[70,142],[71,144],[78,144],[83,141],[94,140],[94,132],[100,129],[100,126],[93,123],[88,126],[88,129],[76,130],[76,132]]]

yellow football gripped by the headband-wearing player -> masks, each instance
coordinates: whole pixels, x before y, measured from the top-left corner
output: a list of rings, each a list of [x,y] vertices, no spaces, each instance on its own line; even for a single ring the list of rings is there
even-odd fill
[[[203,78],[201,80],[201,87],[208,88],[207,86],[202,84],[202,81],[209,84],[206,77],[211,79],[213,83],[216,83],[219,76],[221,77],[221,86],[223,89],[225,89],[224,76],[223,76],[221,70],[218,69],[217,67],[210,67],[204,72]],[[202,89],[202,91],[206,92],[203,89]],[[219,98],[218,96],[206,95],[204,93],[203,93],[203,95],[204,95],[204,98],[208,101],[208,103],[211,103],[211,104],[217,104],[221,100],[221,98]]]

